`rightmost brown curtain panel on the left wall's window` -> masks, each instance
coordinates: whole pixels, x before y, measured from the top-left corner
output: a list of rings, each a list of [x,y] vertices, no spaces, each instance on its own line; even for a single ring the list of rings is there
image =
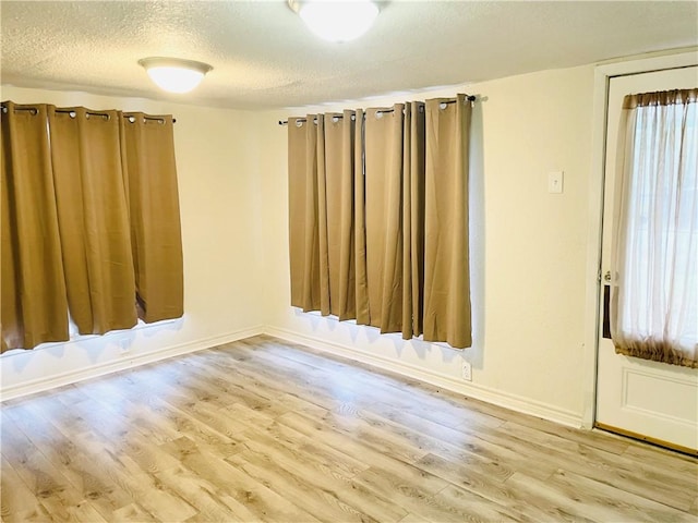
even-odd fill
[[[124,113],[121,133],[139,316],[178,318],[183,263],[172,117]]]

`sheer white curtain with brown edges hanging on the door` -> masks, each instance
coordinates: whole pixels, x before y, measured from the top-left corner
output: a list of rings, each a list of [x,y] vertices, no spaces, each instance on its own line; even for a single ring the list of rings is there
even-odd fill
[[[697,367],[698,89],[628,95],[614,206],[616,352]]]

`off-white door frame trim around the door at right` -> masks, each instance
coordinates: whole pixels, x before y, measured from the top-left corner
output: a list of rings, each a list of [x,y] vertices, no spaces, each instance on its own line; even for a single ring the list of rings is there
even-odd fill
[[[599,304],[601,284],[601,234],[605,179],[606,113],[609,85],[614,76],[647,73],[698,64],[698,47],[602,62],[594,69],[591,135],[591,171],[587,226],[587,270],[585,299],[585,350],[582,354],[582,427],[593,428],[597,411],[597,355],[599,353]]]

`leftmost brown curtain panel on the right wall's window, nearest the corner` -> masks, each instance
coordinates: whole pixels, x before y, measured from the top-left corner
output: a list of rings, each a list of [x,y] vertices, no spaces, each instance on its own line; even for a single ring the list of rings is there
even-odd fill
[[[321,308],[317,218],[317,131],[313,120],[288,122],[289,260],[291,305]]]

